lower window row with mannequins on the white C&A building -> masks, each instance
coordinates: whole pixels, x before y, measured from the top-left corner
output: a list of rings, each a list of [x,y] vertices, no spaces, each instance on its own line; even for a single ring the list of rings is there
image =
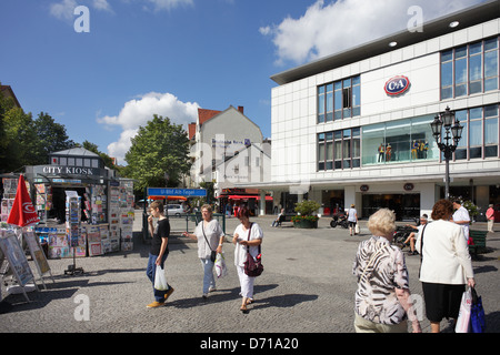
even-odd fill
[[[498,104],[456,111],[456,119],[460,121],[463,130],[454,151],[454,160],[499,156],[499,111]],[[438,160],[440,156],[444,160],[432,135],[430,123],[433,119],[434,114],[430,114],[321,133],[318,135],[319,149],[324,146],[324,134],[332,136],[333,148],[328,150],[333,151],[333,162],[326,164],[331,162],[331,155],[321,155],[322,161],[319,162],[318,169],[424,162]],[[442,135],[446,135],[444,129]],[[331,139],[329,140],[331,142]]]

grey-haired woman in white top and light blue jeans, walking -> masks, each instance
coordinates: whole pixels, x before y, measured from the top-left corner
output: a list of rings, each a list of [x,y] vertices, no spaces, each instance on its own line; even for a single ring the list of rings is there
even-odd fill
[[[212,252],[221,253],[222,244],[224,242],[224,232],[222,231],[219,221],[213,220],[212,206],[204,204],[201,206],[202,220],[194,229],[194,233],[188,232],[182,235],[198,241],[198,257],[203,267],[203,287],[202,298],[207,300],[209,292],[216,291],[216,277],[213,277]]]

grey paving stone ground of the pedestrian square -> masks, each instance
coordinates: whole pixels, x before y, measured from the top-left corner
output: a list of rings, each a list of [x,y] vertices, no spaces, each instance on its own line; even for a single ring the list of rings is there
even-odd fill
[[[186,221],[171,219],[172,236],[166,271],[174,292],[166,306],[149,310],[152,286],[146,276],[149,245],[142,242],[140,211],[134,223],[134,248],[103,256],[77,258],[81,275],[64,275],[72,260],[49,260],[54,282],[48,290],[8,295],[12,308],[0,314],[1,333],[353,333],[356,278],[351,267],[360,241],[370,236],[366,221],[360,235],[329,226],[321,219],[317,230],[271,227],[272,216],[252,219],[261,225],[263,274],[256,281],[256,302],[248,314],[239,311],[239,281],[233,266],[230,235],[239,223],[227,220],[224,255],[228,276],[217,281],[217,291],[201,298],[202,268],[197,244],[180,233]],[[192,230],[193,224],[188,227]],[[486,229],[476,223],[473,229]],[[473,262],[477,291],[483,298],[488,332],[500,332],[500,232],[489,234],[489,252]],[[421,295],[419,256],[406,256],[410,288]],[[30,263],[32,263],[30,261]],[[36,268],[32,268],[36,273]],[[38,275],[37,275],[38,278]],[[88,307],[86,307],[88,305]],[[84,311],[88,311],[86,313]],[[447,321],[442,328],[447,332]],[[422,315],[422,331],[430,324]]]

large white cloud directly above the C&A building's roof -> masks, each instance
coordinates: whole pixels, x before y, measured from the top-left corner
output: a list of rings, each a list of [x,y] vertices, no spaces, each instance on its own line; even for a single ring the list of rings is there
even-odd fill
[[[300,64],[404,30],[412,6],[420,7],[423,21],[429,21],[482,1],[318,0],[299,19],[288,17],[259,31],[272,37],[278,64]]]

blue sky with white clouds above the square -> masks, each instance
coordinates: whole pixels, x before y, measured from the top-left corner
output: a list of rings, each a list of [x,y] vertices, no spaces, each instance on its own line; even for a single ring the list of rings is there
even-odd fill
[[[1,0],[0,82],[123,164],[153,113],[244,106],[271,138],[272,74],[481,0]],[[89,10],[89,32],[77,32]]]

